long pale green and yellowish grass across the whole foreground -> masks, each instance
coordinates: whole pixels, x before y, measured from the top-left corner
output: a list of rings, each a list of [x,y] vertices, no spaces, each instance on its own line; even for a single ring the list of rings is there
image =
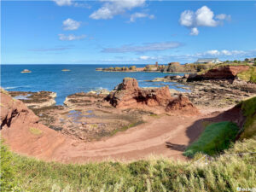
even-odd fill
[[[225,154],[256,152],[256,138]],[[132,163],[63,165],[10,153],[1,145],[3,191],[236,191],[253,188],[256,156],[222,155],[204,163],[155,158]]]

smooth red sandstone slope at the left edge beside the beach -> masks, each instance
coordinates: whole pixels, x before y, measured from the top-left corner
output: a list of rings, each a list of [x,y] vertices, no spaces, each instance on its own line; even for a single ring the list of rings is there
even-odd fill
[[[21,154],[49,157],[64,137],[38,123],[38,116],[20,100],[1,89],[1,137]]]

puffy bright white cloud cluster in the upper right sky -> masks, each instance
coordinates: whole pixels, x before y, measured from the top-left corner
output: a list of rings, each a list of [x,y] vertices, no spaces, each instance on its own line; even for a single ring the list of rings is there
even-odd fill
[[[202,6],[195,12],[191,10],[185,10],[180,15],[179,22],[182,26],[187,26],[191,29],[190,35],[198,35],[198,26],[218,26],[221,24],[220,20],[231,20],[230,15],[220,14],[215,17],[214,13],[207,6]]]

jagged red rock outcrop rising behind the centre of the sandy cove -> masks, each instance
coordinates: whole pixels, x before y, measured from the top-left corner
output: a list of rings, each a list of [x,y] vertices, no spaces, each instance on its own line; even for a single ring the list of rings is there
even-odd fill
[[[143,108],[155,111],[198,113],[185,96],[174,98],[169,88],[140,88],[136,79],[125,78],[107,97],[115,108]]]

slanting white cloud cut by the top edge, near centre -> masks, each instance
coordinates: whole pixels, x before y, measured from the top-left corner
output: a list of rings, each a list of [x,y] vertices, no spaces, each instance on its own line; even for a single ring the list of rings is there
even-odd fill
[[[94,20],[108,20],[112,19],[114,15],[124,13],[136,7],[142,7],[146,0],[102,0],[103,5],[90,15]]]

